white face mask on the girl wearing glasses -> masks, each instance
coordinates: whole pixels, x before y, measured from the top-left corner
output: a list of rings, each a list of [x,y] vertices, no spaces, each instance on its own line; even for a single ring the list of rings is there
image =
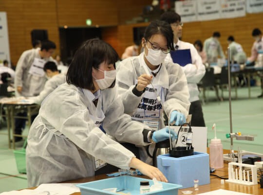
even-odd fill
[[[145,44],[147,47],[147,43]],[[147,49],[148,49],[148,56],[146,56],[145,50],[144,50],[144,56],[154,66],[158,66],[159,64],[161,64],[167,56],[167,54],[163,53],[161,50],[155,51],[153,49],[149,49],[148,47]]]

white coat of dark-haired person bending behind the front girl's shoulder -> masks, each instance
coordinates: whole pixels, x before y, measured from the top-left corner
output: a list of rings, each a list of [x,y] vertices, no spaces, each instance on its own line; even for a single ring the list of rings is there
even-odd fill
[[[53,92],[59,85],[63,84],[66,81],[66,74],[60,73],[55,75],[54,77],[47,80],[45,83],[44,89],[40,92],[40,94],[36,97],[30,97],[30,99],[34,100],[34,103],[41,104],[41,102],[51,93]]]

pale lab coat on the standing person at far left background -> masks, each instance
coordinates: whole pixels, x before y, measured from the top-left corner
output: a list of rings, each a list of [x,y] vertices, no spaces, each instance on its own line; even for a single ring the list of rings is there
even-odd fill
[[[19,58],[17,67],[16,67],[16,74],[15,74],[15,88],[16,88],[16,96],[23,96],[23,97],[32,97],[38,96],[38,94],[43,90],[46,78],[38,77],[32,74],[29,74],[30,67],[35,58],[41,59],[39,56],[39,48],[37,49],[30,49],[24,51]],[[45,58],[45,61],[53,61],[53,58]],[[17,87],[23,87],[22,92],[17,92]]]

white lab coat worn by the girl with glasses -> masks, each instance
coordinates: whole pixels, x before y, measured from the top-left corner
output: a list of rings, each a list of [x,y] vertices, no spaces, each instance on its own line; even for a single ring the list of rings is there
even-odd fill
[[[143,55],[144,53],[141,53],[139,56],[121,61],[117,69],[116,84],[118,93],[124,104],[124,113],[129,115],[136,112],[137,106],[143,98],[143,94],[137,97],[132,93],[136,80],[141,76],[140,66],[146,65]],[[164,88],[164,107],[168,114],[177,110],[183,113],[185,117],[188,116],[190,102],[188,101],[187,80],[178,64],[165,61],[159,73],[155,78],[153,77],[152,84],[158,84]],[[164,128],[162,115],[158,120],[159,129]]]

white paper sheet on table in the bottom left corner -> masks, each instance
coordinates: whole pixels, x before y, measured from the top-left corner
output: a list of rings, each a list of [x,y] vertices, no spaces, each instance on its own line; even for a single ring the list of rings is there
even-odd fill
[[[50,183],[41,184],[35,190],[20,190],[4,192],[0,195],[71,195],[80,192],[77,183]]]

